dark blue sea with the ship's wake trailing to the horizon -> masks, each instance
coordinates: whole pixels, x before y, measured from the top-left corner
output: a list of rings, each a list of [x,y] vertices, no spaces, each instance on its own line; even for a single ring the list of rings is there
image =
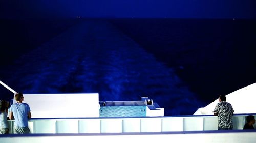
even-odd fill
[[[165,115],[191,115],[256,81],[253,20],[26,22],[6,24],[1,41],[8,47],[1,81],[15,91],[96,92],[100,101],[148,96]]]

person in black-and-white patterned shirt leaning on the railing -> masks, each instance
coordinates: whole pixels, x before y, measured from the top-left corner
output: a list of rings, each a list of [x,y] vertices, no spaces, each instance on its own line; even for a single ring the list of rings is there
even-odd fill
[[[220,95],[220,103],[215,106],[214,115],[218,116],[218,130],[232,130],[233,121],[232,115],[234,114],[233,107],[230,103],[226,102],[226,96]]]

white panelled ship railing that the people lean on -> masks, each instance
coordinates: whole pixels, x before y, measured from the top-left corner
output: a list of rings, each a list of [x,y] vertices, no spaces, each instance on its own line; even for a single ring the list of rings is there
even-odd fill
[[[256,114],[252,114],[256,115]],[[247,115],[233,116],[233,129],[241,130]],[[14,120],[8,121],[13,133]],[[31,133],[138,133],[218,130],[217,116],[165,116],[127,118],[31,119]]]

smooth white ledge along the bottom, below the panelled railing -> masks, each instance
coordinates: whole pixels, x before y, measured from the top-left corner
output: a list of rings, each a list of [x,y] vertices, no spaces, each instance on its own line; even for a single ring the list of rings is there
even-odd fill
[[[187,131],[150,133],[99,134],[9,134],[0,136],[0,142],[255,142],[255,130]]]

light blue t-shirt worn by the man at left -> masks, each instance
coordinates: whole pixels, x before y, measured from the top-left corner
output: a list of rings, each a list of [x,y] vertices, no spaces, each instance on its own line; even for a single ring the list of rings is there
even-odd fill
[[[15,119],[14,126],[28,127],[28,112],[30,111],[29,104],[27,103],[12,104],[10,111],[12,111]]]

